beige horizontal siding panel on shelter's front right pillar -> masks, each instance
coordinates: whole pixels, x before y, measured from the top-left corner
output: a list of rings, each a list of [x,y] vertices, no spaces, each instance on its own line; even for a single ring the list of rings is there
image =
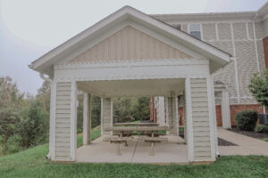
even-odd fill
[[[195,160],[211,159],[207,85],[205,78],[190,79]]]

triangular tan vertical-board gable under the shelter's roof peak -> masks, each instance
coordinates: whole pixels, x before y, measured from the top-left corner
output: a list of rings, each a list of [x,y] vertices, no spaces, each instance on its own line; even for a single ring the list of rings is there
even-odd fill
[[[155,39],[153,36],[127,26],[86,52],[71,60],[86,61],[137,61],[159,59],[190,59],[187,53]]]

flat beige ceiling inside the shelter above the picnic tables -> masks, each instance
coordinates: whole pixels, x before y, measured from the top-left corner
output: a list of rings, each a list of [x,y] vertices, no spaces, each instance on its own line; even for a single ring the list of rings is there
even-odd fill
[[[184,79],[147,79],[78,82],[81,91],[102,97],[169,96],[184,91]]]

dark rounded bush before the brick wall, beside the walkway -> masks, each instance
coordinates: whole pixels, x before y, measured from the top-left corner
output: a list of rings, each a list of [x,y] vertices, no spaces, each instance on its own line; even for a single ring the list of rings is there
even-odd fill
[[[236,125],[242,131],[253,131],[258,114],[255,110],[243,110],[236,115]]]

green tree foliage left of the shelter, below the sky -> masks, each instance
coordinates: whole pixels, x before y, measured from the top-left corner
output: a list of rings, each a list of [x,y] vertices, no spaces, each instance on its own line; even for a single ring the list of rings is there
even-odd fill
[[[46,95],[46,91],[40,92],[37,99],[20,93],[12,78],[0,79],[0,144],[4,153],[46,142],[49,123]]]

